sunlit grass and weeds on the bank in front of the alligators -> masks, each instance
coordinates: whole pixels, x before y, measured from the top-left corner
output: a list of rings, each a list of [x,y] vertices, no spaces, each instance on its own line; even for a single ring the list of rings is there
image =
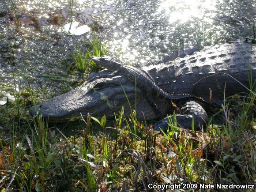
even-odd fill
[[[29,95],[35,105],[31,90]],[[123,108],[113,127],[105,116],[100,120],[88,116],[82,120],[82,132],[69,136],[50,127],[40,114],[20,124],[21,111],[28,107],[19,92],[15,96],[20,102],[0,110],[15,109],[19,114],[8,134],[0,133],[2,191],[143,190],[151,182],[255,184],[256,146],[251,137],[255,122],[249,115],[254,105],[247,105],[254,98],[250,95],[233,99],[238,117],[226,103],[227,122],[222,128],[210,125],[206,132],[179,128],[170,118],[167,131],[159,135],[137,121],[136,114],[124,117]],[[101,132],[92,135],[97,126]],[[112,134],[107,134],[108,129]]]

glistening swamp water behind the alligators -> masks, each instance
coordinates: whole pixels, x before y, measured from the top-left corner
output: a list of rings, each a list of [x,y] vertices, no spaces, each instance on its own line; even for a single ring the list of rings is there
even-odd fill
[[[253,0],[9,0],[0,1],[0,90],[20,76],[23,86],[46,93],[70,89],[71,53],[87,48],[96,34],[108,55],[123,63],[146,64],[178,49],[179,37],[199,47],[252,37]],[[10,77],[8,77],[10,76]],[[70,81],[68,81],[70,82]]]

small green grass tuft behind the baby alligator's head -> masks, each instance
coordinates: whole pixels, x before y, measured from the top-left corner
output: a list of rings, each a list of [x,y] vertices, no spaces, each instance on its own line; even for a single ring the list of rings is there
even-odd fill
[[[77,70],[81,73],[84,73],[88,70],[89,67],[93,70],[98,70],[100,68],[100,66],[91,60],[90,57],[104,56],[106,53],[107,49],[105,49],[105,44],[102,44],[101,41],[98,40],[98,37],[93,35],[93,39],[89,48],[85,51],[84,56],[78,48],[78,51],[75,53],[75,55],[72,54],[72,57],[76,64]]]

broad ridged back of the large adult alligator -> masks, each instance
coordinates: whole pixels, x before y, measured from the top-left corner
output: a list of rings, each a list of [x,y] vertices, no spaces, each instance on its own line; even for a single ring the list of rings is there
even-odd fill
[[[170,94],[193,94],[219,103],[225,95],[248,92],[256,80],[256,45],[246,42],[215,45],[184,58],[144,67],[159,87]],[[233,79],[233,78],[234,79]],[[236,79],[236,80],[235,80]]]

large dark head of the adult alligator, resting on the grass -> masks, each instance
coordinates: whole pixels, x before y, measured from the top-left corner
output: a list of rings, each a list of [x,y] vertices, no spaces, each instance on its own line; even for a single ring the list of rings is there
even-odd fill
[[[129,102],[128,102],[129,101]],[[125,112],[136,109],[137,118],[156,118],[143,91],[122,75],[112,76],[108,70],[89,75],[87,82],[76,89],[31,107],[30,115],[37,113],[54,122],[68,121],[90,113],[93,117],[118,114],[122,106]]]

